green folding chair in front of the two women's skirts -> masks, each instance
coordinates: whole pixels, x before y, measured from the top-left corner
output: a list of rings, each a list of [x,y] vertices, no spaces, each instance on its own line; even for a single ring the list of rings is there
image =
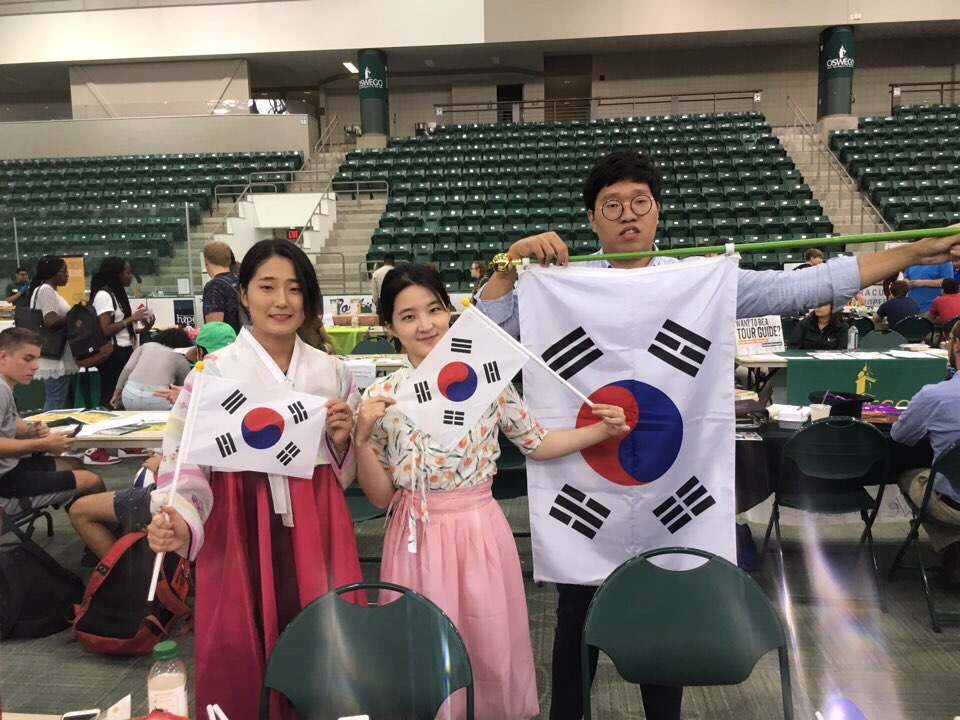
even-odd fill
[[[366,606],[341,597],[367,590],[400,597]],[[470,658],[450,618],[409,588],[356,583],[314,600],[280,635],[264,672],[259,716],[268,720],[272,690],[303,720],[361,714],[433,720],[461,688],[472,720]]]

